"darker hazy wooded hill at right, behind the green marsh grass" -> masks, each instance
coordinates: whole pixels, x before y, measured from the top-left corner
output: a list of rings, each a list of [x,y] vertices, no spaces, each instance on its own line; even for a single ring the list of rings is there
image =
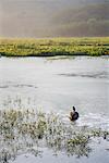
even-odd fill
[[[59,36],[109,36],[109,3],[96,3],[57,13],[51,22]]]

